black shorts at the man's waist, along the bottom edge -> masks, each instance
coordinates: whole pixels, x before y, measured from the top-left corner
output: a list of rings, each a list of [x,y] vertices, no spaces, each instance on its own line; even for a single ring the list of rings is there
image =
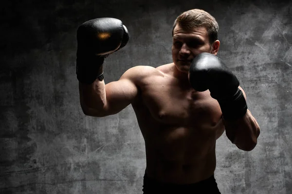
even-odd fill
[[[221,194],[214,175],[193,184],[162,183],[144,175],[143,194]]]

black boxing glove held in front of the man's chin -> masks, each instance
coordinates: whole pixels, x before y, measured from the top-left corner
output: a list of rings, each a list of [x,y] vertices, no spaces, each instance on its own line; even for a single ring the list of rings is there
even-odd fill
[[[206,52],[199,54],[190,65],[188,79],[199,92],[209,89],[211,97],[218,100],[224,119],[237,119],[247,112],[237,77],[219,57]]]

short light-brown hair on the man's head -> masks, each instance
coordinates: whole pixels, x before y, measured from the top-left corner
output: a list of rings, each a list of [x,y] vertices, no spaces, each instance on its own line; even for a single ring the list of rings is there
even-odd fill
[[[173,24],[172,36],[177,24],[179,24],[183,30],[187,31],[194,27],[205,27],[211,44],[218,39],[219,25],[216,19],[204,10],[192,9],[178,16]]]

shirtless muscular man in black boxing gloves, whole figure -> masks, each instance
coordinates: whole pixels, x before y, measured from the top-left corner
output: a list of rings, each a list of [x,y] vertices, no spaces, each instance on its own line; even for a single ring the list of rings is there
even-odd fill
[[[173,26],[173,63],[135,66],[105,85],[102,64],[124,47],[127,28],[118,19],[97,18],[77,31],[77,78],[86,115],[103,117],[132,105],[146,144],[144,194],[219,194],[214,178],[216,140],[224,130],[250,151],[260,129],[247,110],[234,74],[216,56],[218,23],[194,9]]]

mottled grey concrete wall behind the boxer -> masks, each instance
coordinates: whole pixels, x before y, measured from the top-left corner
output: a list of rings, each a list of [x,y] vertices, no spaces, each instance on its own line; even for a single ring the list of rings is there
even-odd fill
[[[100,1],[100,2],[99,2]],[[96,17],[128,27],[105,81],[135,65],[171,63],[176,16],[201,8],[219,22],[261,135],[251,152],[217,143],[222,194],[292,194],[292,2],[276,0],[6,1],[0,24],[0,193],[142,193],[145,146],[132,107],[85,116],[75,76],[76,29]]]

